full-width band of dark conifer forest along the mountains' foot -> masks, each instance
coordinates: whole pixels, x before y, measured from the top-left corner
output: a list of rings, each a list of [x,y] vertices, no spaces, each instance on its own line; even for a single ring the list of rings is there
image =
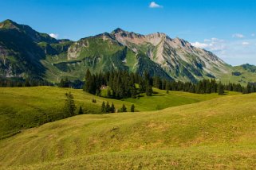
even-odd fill
[[[239,83],[223,84],[215,79],[203,79],[197,83],[175,82],[161,79],[158,76],[150,76],[148,72],[139,75],[128,71],[108,71],[105,73],[92,74],[89,70],[85,74],[85,82],[81,80],[70,81],[61,79],[60,83],[49,83],[44,79],[30,78],[1,78],[0,87],[35,87],[35,86],[58,86],[71,87],[87,91],[93,95],[100,95],[100,91],[107,91],[107,98],[125,99],[137,98],[145,93],[148,96],[153,94],[152,87],[166,91],[186,91],[197,94],[219,93],[224,95],[224,91],[237,91],[244,94],[256,92],[256,83],[248,83],[242,87]]]

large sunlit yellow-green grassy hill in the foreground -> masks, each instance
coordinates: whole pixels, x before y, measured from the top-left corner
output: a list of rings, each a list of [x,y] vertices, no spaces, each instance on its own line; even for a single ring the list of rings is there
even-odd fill
[[[48,123],[0,141],[0,167],[253,169],[255,99],[256,94],[225,96]]]

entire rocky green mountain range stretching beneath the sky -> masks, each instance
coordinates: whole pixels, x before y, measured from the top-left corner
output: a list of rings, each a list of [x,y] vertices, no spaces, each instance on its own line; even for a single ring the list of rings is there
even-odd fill
[[[225,83],[256,81],[256,67],[232,67],[214,53],[165,33],[142,35],[115,29],[79,41],[56,40],[28,25],[0,22],[0,76],[41,77],[51,82],[85,79],[85,71],[148,71],[170,80]]]

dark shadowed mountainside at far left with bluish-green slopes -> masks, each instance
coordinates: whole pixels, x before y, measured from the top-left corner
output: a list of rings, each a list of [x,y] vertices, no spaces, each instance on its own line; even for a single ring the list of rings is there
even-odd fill
[[[47,54],[59,55],[66,51],[65,44],[69,41],[57,41],[28,25],[3,21],[0,23],[0,76],[44,78],[47,68],[41,60],[45,60]]]

